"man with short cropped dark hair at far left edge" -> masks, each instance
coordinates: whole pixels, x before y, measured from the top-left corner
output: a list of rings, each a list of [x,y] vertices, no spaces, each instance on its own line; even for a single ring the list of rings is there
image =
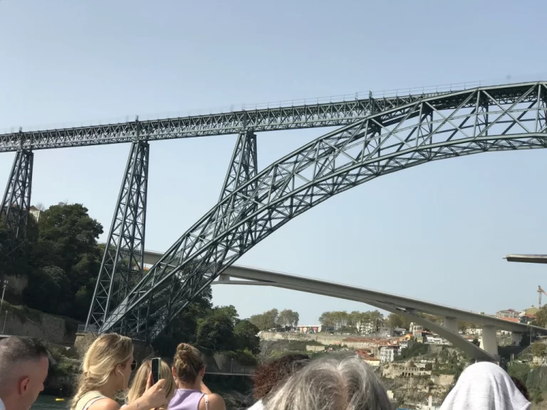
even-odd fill
[[[0,340],[0,409],[28,410],[48,377],[48,351],[36,339]]]

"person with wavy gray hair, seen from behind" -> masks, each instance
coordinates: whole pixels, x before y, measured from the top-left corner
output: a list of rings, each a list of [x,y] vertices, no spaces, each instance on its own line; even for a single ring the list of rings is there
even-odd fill
[[[322,358],[294,373],[266,399],[266,410],[392,410],[363,360]]]

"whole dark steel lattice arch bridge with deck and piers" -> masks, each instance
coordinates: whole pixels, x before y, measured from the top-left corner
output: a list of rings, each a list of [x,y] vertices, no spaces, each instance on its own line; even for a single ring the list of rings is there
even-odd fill
[[[255,132],[333,125],[343,127],[257,172]],[[143,275],[148,142],[233,133],[219,202]],[[0,209],[11,212],[14,243],[33,149],[118,142],[132,147],[86,329],[153,340],[241,255],[335,194],[438,159],[547,147],[547,83],[0,135],[0,152],[17,152],[12,174],[30,176],[9,182]]]

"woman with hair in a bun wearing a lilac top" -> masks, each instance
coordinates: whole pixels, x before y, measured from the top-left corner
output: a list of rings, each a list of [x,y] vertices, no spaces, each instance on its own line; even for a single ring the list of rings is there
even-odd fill
[[[205,386],[205,364],[198,349],[186,343],[177,346],[172,373],[177,390],[169,410],[226,410],[224,399]]]

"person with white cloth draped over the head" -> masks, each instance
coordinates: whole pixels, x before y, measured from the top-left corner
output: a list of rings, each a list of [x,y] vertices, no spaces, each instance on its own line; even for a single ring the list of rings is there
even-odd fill
[[[460,375],[441,410],[527,410],[530,406],[504,369],[479,362]]]

